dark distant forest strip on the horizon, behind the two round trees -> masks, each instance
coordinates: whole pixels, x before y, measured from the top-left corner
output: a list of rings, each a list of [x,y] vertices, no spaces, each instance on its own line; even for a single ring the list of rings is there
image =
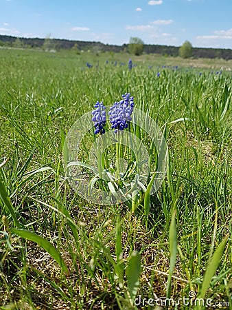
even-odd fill
[[[109,45],[100,42],[89,41],[71,41],[65,39],[39,39],[39,38],[17,38],[11,36],[0,35],[0,47],[14,48],[47,48],[54,50],[91,50],[93,52],[128,52],[128,44],[124,45]],[[161,54],[165,56],[178,56],[179,48],[176,46],[167,45],[148,45],[144,44],[143,53],[145,54]],[[231,49],[221,48],[193,48],[192,56],[194,58],[219,58],[232,59]]]

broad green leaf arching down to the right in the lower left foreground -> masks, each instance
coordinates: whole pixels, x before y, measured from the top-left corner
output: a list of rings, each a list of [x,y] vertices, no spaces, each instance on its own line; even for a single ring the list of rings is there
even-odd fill
[[[45,249],[45,251],[47,251],[47,253],[50,254],[50,256],[54,258],[54,260],[56,260],[56,262],[58,262],[63,271],[68,273],[65,261],[62,259],[60,252],[53,245],[51,245],[51,242],[47,241],[43,237],[38,236],[34,232],[28,231],[26,229],[12,228],[10,229],[10,232],[12,232],[12,234],[20,236],[21,238],[25,238],[26,240],[36,242],[38,245],[40,245],[40,247],[43,247],[43,249]]]

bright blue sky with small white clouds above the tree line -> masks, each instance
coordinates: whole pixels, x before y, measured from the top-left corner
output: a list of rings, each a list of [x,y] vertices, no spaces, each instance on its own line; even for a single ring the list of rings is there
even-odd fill
[[[0,0],[0,34],[232,49],[232,0]]]

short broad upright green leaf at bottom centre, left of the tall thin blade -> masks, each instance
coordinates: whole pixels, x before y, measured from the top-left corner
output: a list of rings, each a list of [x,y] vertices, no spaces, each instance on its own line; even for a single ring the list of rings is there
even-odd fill
[[[139,277],[141,273],[141,254],[138,251],[133,251],[126,268],[126,276],[128,280],[128,291],[132,302],[135,300],[139,287]]]

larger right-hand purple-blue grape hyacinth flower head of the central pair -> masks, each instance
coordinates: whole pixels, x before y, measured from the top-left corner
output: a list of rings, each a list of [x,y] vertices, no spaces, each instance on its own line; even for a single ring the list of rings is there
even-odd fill
[[[115,102],[114,105],[110,108],[110,121],[111,128],[115,130],[115,133],[118,130],[124,130],[128,127],[128,122],[132,120],[131,114],[134,108],[134,99],[130,94],[126,93],[122,95],[124,100]]]

